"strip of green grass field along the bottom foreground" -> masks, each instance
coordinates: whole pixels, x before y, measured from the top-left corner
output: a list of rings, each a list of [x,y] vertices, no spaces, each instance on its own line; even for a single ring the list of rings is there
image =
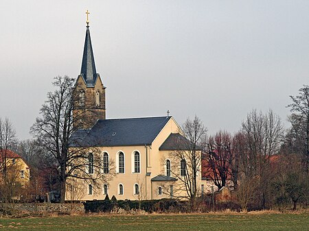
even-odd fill
[[[0,230],[309,230],[307,214],[102,215],[0,218]]]

